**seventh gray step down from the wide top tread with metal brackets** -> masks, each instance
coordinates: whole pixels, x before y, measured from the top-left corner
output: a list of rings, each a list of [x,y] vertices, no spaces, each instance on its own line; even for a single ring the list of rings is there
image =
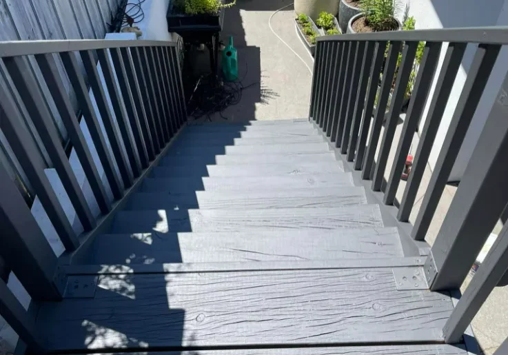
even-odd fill
[[[236,154],[305,154],[329,152],[328,143],[270,144],[270,145],[209,145],[196,146],[192,141],[176,144],[167,154],[171,155],[236,155]]]

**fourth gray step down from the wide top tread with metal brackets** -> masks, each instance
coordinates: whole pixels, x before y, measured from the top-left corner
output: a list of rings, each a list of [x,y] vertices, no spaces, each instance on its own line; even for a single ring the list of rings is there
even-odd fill
[[[145,179],[141,186],[143,192],[168,192],[181,194],[192,191],[229,191],[229,190],[294,190],[309,187],[346,187],[354,186],[351,172],[338,174],[307,174],[286,176],[237,176],[237,177],[201,177],[172,179]]]

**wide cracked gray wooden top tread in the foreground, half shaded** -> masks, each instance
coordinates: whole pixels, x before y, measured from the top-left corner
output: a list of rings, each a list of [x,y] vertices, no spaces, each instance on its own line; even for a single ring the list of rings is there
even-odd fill
[[[429,343],[452,310],[392,267],[108,274],[93,298],[42,303],[37,328],[51,352]]]

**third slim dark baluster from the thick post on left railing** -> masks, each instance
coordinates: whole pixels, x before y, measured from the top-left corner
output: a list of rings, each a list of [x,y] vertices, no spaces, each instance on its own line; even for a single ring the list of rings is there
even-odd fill
[[[81,128],[79,127],[78,119],[76,114],[74,114],[74,109],[63,87],[57,64],[52,54],[37,54],[35,59],[50,89],[54,103],[57,105],[61,119],[65,125],[65,130],[67,130],[72,146],[79,158],[79,163],[90,183],[97,205],[99,205],[99,209],[103,214],[108,214],[111,210],[108,194],[105,192],[101,176],[99,176],[97,172],[92,154],[90,154],[83,132],[81,132]]]

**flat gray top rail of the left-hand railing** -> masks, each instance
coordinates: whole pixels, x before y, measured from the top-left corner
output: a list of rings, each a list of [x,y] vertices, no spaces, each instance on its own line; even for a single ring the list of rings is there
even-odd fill
[[[78,50],[101,50],[131,47],[175,47],[172,41],[125,40],[125,39],[66,39],[41,41],[0,41],[0,58],[23,55],[74,52]]]

